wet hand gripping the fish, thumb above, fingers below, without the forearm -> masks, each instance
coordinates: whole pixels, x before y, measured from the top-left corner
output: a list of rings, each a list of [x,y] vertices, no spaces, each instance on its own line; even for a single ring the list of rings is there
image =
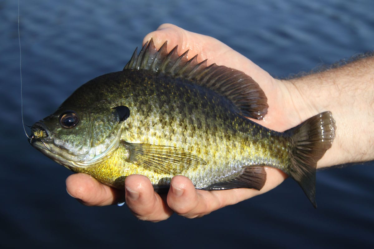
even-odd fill
[[[179,54],[189,50],[188,58],[198,55],[199,61],[208,59],[208,65],[211,63],[225,65],[251,76],[265,92],[269,105],[265,118],[253,121],[267,128],[284,131],[311,116],[329,110],[326,109],[328,106],[319,105],[315,99],[307,98],[307,91],[300,91],[297,87],[299,85],[295,82],[271,77],[251,60],[212,37],[188,32],[171,24],[164,24],[157,31],[148,34],[143,43],[150,38],[153,38],[157,49],[167,40],[168,52],[178,45]],[[337,120],[339,127],[338,122],[339,119]],[[339,139],[339,136],[337,134],[335,140]],[[318,167],[332,165],[333,155],[338,152],[339,146],[333,143],[332,148],[318,162]],[[266,167],[265,170],[267,180],[260,191],[254,189],[195,190],[192,182],[183,176],[175,176],[172,179],[167,195],[155,193],[150,180],[142,175],[130,175],[126,178],[125,193],[105,186],[85,174],[71,175],[67,178],[66,184],[68,193],[80,199],[85,205],[102,206],[126,200],[126,204],[140,220],[161,221],[170,217],[174,212],[187,218],[201,217],[224,206],[265,193],[278,186],[286,178],[286,175],[278,169]]]

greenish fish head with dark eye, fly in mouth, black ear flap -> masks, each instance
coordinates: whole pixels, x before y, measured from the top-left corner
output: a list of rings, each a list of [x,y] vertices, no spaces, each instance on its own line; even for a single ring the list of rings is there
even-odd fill
[[[97,164],[119,147],[129,108],[105,101],[89,106],[64,103],[31,127],[33,147],[73,171]]]

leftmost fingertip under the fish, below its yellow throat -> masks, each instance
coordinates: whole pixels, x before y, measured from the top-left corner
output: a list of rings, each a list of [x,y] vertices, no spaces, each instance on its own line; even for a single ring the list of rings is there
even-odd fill
[[[70,175],[66,179],[66,191],[87,206],[106,206],[125,200],[123,191],[101,184],[83,173]]]

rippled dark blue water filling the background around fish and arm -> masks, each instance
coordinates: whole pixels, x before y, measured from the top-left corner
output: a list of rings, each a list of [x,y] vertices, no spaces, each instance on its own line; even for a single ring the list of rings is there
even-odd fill
[[[211,35],[276,77],[374,49],[372,0],[21,0],[26,124],[79,85],[119,71],[142,38],[170,22]],[[286,180],[200,219],[138,221],[126,206],[68,196],[67,169],[33,149],[20,119],[15,0],[0,1],[0,248],[373,248],[373,163],[320,171],[318,209]]]

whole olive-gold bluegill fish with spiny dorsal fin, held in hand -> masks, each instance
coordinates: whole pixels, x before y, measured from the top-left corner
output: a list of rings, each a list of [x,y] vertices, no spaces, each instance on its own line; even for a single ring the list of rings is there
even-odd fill
[[[81,85],[31,127],[30,144],[73,172],[124,189],[128,175],[147,176],[155,191],[184,175],[196,189],[261,190],[266,167],[281,169],[316,207],[316,165],[335,137],[332,113],[278,132],[261,120],[269,108],[249,75],[188,50],[135,49],[122,71]]]

